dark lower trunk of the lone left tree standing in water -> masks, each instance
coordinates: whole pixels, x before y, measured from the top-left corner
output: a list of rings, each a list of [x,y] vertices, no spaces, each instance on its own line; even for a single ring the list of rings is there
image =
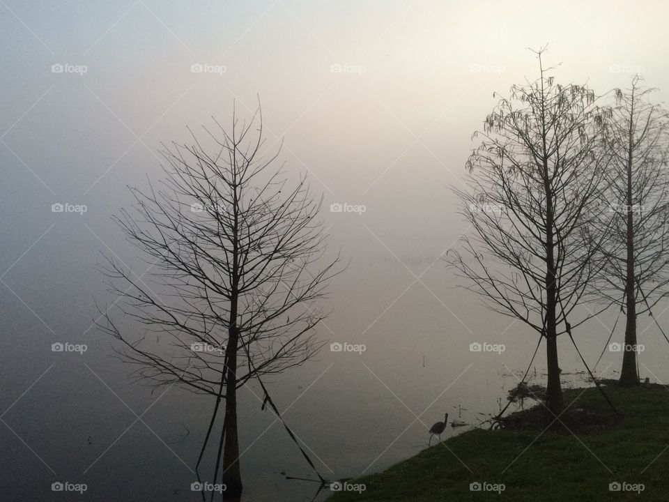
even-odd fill
[[[226,347],[227,377],[225,399],[225,445],[223,448],[222,482],[226,485],[223,499],[236,499],[242,492],[237,434],[237,344],[236,326],[231,326]]]

